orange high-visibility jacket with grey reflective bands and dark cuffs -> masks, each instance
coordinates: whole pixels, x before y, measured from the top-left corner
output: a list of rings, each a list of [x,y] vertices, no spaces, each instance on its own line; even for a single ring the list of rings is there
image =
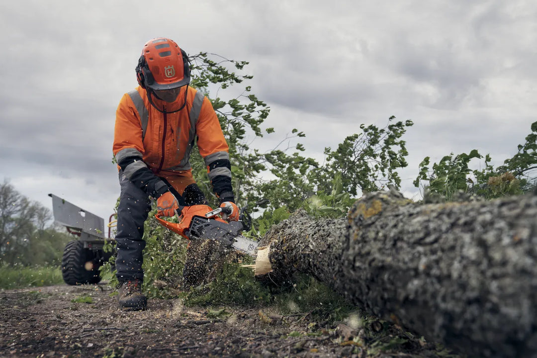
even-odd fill
[[[211,102],[201,92],[190,86],[186,88],[186,105],[178,112],[173,111],[184,104],[185,88],[173,103],[151,97],[156,106],[165,108],[165,113],[149,103],[146,90],[140,86],[124,94],[116,112],[114,156],[129,179],[139,177],[139,171],[147,169],[157,177],[167,177],[173,173],[188,175],[191,170],[190,153],[197,138],[198,149],[209,169],[213,186],[217,177],[218,182],[222,178],[226,182],[223,187],[214,186],[215,193],[220,195],[222,191],[231,191],[229,147],[220,122]],[[142,188],[158,196],[154,192],[162,185],[155,182],[154,187]]]

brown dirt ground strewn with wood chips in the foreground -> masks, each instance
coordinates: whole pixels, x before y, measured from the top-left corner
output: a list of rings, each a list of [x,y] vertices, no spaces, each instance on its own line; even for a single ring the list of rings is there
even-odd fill
[[[0,291],[0,357],[452,356],[380,322],[353,328],[307,313],[192,308],[178,299],[124,312],[113,291],[106,283]],[[91,302],[74,302],[84,299]]]

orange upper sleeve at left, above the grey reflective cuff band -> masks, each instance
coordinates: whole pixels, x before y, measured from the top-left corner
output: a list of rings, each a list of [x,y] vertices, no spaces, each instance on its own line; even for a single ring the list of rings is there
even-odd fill
[[[144,154],[142,125],[133,101],[125,93],[115,111],[114,156],[122,149],[133,148]]]

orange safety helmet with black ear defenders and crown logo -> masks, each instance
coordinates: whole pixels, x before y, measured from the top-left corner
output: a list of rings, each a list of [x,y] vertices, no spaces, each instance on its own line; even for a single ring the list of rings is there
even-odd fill
[[[142,88],[153,91],[187,85],[190,83],[188,56],[170,39],[150,40],[143,46],[136,78]]]

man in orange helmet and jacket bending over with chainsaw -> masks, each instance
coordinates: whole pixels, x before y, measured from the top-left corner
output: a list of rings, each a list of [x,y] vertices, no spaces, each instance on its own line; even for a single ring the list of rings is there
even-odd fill
[[[228,145],[211,102],[188,86],[188,56],[166,38],[143,46],[136,66],[140,86],[119,103],[113,152],[119,167],[117,268],[119,305],[126,310],[146,308],[142,293],[143,224],[157,201],[161,216],[176,215],[179,205],[206,202],[189,163],[197,138],[220,206],[230,206],[228,220],[238,220],[231,188]],[[180,213],[179,213],[180,214]]]

